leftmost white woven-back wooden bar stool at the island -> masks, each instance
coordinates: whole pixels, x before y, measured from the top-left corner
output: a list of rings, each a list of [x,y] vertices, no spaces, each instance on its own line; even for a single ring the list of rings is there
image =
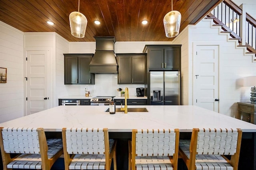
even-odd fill
[[[62,139],[46,140],[43,128],[0,128],[0,148],[4,170],[50,170],[63,154]]]

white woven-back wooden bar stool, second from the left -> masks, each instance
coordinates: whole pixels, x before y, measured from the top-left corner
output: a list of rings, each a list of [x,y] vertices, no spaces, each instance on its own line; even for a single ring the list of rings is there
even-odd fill
[[[62,128],[65,170],[116,170],[116,141],[108,128]],[[71,156],[70,156],[71,154]]]

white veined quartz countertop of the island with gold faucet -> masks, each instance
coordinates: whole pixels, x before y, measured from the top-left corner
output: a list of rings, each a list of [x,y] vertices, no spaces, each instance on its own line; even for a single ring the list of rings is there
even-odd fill
[[[116,106],[118,108],[118,106]],[[256,132],[256,125],[225,116],[198,106],[128,106],[145,107],[149,112],[104,112],[108,106],[57,106],[0,124],[0,127],[42,127],[45,131],[62,128],[108,128],[109,132],[131,132],[132,129],[241,128]]]

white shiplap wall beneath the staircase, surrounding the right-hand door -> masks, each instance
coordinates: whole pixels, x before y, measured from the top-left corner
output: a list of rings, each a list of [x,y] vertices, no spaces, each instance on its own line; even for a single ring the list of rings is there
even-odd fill
[[[250,87],[243,86],[243,77],[256,76],[256,62],[252,54],[245,54],[245,47],[237,47],[238,40],[229,40],[229,34],[220,33],[220,26],[213,24],[204,19],[189,26],[189,60],[193,59],[193,43],[219,46],[219,112],[234,117],[236,102],[250,102]]]

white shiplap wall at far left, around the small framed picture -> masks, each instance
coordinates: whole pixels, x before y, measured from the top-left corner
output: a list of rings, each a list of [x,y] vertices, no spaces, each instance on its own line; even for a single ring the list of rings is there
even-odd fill
[[[0,67],[7,68],[7,83],[0,83],[0,123],[22,117],[23,32],[0,21]]]

